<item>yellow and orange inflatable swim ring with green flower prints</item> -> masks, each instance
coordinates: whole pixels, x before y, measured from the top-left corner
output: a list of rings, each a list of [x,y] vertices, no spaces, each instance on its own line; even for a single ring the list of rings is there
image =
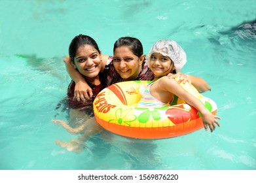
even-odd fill
[[[93,103],[96,121],[112,133],[136,139],[177,137],[204,127],[200,113],[175,95],[170,107],[136,107],[141,99],[139,91],[150,82],[119,82],[101,90]],[[189,84],[180,85],[216,114],[214,101]]]

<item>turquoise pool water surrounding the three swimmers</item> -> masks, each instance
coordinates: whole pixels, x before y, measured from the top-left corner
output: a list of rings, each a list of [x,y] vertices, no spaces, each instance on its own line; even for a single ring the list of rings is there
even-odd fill
[[[249,1],[0,1],[0,169],[256,169],[256,3]],[[253,22],[254,21],[254,22]],[[221,127],[172,139],[94,135],[81,153],[56,139],[71,135],[51,122],[70,78],[62,58],[80,33],[112,55],[122,36],[147,54],[159,39],[187,52],[183,73],[204,78]]]

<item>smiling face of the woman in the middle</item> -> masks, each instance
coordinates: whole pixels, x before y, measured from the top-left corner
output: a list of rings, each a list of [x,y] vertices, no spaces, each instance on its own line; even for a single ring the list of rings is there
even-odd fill
[[[144,56],[138,58],[128,46],[115,48],[113,65],[124,80],[134,80],[141,71]]]

